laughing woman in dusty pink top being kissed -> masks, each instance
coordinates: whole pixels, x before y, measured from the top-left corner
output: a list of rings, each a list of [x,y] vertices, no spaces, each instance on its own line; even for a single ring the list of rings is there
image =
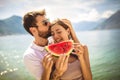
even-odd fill
[[[68,26],[67,22],[64,22],[64,20],[58,20],[51,25],[51,35],[55,43],[70,40],[73,37],[71,25]],[[78,40],[75,39],[75,42]],[[70,55],[54,58],[51,80],[92,80],[87,47],[76,43],[74,50],[75,52]]]

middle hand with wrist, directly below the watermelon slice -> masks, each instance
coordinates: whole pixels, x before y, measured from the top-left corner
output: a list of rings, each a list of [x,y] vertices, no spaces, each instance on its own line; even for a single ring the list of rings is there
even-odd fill
[[[55,71],[53,77],[60,77],[68,68],[68,58],[69,55],[61,55],[55,63]]]

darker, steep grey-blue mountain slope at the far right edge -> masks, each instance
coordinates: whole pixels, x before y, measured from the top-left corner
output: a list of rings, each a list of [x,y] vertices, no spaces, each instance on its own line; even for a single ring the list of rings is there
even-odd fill
[[[117,11],[108,19],[106,19],[104,22],[99,24],[95,29],[97,30],[120,29],[120,10]]]

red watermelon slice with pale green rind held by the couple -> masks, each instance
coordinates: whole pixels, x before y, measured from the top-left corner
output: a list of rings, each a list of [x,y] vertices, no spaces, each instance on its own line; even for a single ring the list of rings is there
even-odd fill
[[[56,44],[45,46],[45,49],[54,56],[60,56],[61,54],[69,55],[73,50],[73,41],[63,41]]]

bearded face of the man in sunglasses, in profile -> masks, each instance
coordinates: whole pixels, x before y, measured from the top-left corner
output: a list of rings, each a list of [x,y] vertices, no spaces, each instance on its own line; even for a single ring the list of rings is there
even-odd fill
[[[45,16],[37,16],[36,17],[36,25],[38,26],[38,36],[43,38],[48,38],[50,36],[49,26],[50,23],[48,19],[45,18]]]

